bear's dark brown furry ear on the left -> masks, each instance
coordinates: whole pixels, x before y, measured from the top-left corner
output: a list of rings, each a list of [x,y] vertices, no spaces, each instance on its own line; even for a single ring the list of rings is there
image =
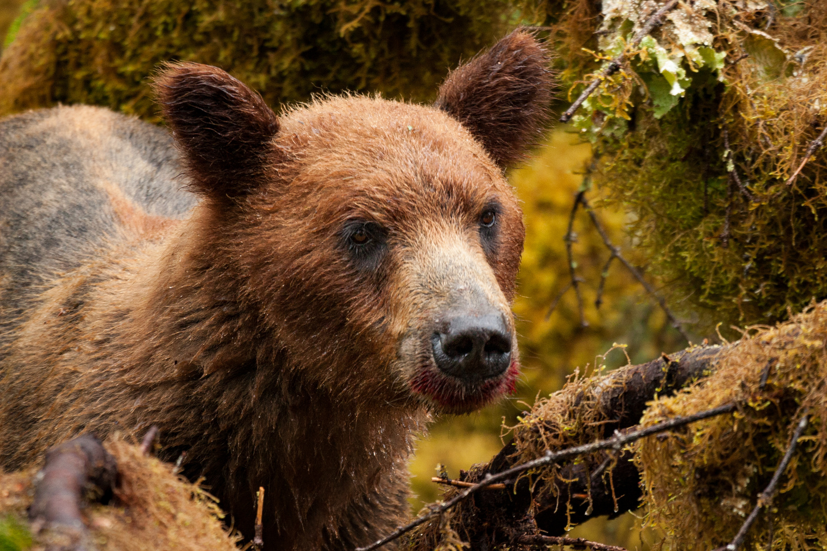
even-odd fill
[[[155,93],[194,192],[224,201],[261,183],[279,119],[260,95],[222,69],[197,63],[166,64]]]

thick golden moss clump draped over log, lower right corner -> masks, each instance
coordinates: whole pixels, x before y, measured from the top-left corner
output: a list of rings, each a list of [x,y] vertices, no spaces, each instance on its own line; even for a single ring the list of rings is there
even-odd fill
[[[729,401],[741,405],[734,416],[694,423],[638,446],[646,520],[665,530],[668,549],[700,551],[728,544],[756,505],[805,412],[809,425],[778,495],[750,530],[749,541],[755,549],[825,549],[825,347],[827,303],[822,302],[790,322],[746,336],[709,378],[649,408],[643,424]],[[767,377],[764,387],[762,376]],[[745,549],[752,548],[748,544]]]

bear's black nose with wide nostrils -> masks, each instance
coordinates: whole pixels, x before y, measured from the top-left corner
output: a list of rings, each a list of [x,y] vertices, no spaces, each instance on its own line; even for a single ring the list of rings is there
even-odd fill
[[[431,338],[442,373],[480,382],[503,373],[511,362],[511,331],[503,316],[457,316]]]

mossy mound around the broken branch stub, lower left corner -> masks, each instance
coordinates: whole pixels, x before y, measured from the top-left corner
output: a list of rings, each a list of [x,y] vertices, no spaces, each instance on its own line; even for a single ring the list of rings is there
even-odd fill
[[[173,473],[173,466],[145,457],[137,446],[110,439],[104,447],[117,460],[118,484],[110,505],[85,514],[100,551],[237,551],[240,538],[227,533],[215,499],[198,484]],[[51,549],[60,534],[32,536],[26,507],[34,498],[36,468],[0,473],[0,549]]]

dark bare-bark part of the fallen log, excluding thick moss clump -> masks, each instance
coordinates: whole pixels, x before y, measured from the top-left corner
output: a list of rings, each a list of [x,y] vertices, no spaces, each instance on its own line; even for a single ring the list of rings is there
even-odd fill
[[[562,449],[574,441],[603,439],[614,430],[629,429],[638,424],[653,397],[670,395],[711,373],[718,359],[733,347],[731,344],[696,346],[676,354],[664,354],[648,363],[619,368],[600,378],[574,381],[547,401],[538,402],[533,411],[523,417],[521,428],[532,425],[532,416],[547,420],[563,410],[579,411],[589,419],[587,428],[581,424],[588,436],[583,432],[572,433],[567,442],[549,445],[539,430],[528,429],[528,434],[519,436],[521,447],[525,448],[528,440],[536,438],[540,456],[545,449]],[[517,442],[512,439],[489,463],[475,465],[462,473],[461,481],[480,482],[486,474],[501,473],[525,458],[525,450],[520,453]],[[605,476],[609,473],[610,478]],[[640,474],[633,463],[633,454],[628,451],[619,454],[616,462],[614,454],[602,454],[588,461],[561,465],[555,479],[560,492],[548,492],[544,482],[535,482],[525,477],[505,490],[476,493],[453,513],[454,530],[471,542],[472,549],[485,549],[486,545],[509,543],[515,533],[526,529],[527,523],[532,526],[536,523],[536,528],[547,534],[560,535],[566,532],[566,527],[594,516],[614,516],[636,509],[641,497]],[[445,499],[457,492],[449,490]],[[435,527],[437,523],[415,534],[412,547],[434,549],[444,531],[434,530]]]

